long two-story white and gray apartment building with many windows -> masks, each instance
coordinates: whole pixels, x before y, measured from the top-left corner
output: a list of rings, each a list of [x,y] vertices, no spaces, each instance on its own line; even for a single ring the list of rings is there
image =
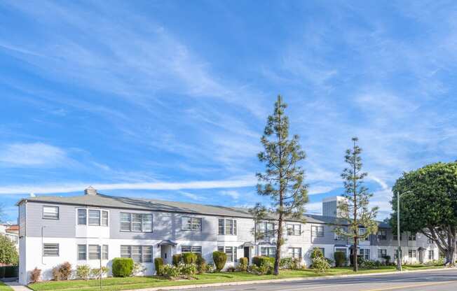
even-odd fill
[[[207,206],[99,194],[93,188],[75,197],[30,197],[18,202],[19,281],[29,282],[31,271],[42,270],[43,280],[52,278],[52,269],[62,262],[74,267],[89,264],[111,269],[115,257],[132,257],[146,267],[144,275],[155,274],[154,258],[172,262],[177,253],[200,253],[212,262],[212,252],[227,254],[226,267],[236,266],[240,257],[274,256],[273,219],[254,228],[245,208]],[[300,258],[310,264],[313,248],[322,248],[325,257],[334,252],[350,254],[350,242],[336,236],[338,218],[306,215],[306,223],[285,222],[283,257]],[[253,230],[264,233],[254,240]],[[437,260],[437,248],[425,236],[402,236],[402,260]],[[377,235],[360,242],[360,255],[367,260],[395,257],[397,241],[390,227],[380,223]]]

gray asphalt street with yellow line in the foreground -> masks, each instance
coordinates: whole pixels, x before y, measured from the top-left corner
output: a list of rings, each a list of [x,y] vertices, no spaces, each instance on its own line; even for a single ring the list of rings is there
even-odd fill
[[[212,288],[196,288],[192,291],[457,291],[457,270],[426,272],[404,272],[402,274],[383,274],[346,278],[327,278],[309,281],[282,283],[259,283]]]

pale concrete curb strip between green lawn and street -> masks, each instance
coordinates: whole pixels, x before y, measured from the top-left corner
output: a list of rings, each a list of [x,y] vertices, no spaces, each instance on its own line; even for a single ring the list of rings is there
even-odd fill
[[[132,289],[125,291],[161,291],[161,290],[185,290],[185,289],[196,289],[196,288],[209,288],[209,287],[222,287],[222,286],[236,286],[236,285],[252,285],[252,284],[266,284],[266,283],[282,283],[282,282],[294,282],[294,281],[313,281],[320,279],[329,279],[329,278],[348,278],[348,277],[367,277],[367,276],[383,276],[383,275],[401,275],[409,273],[421,273],[426,271],[446,271],[453,270],[453,268],[438,268],[438,269],[423,269],[423,270],[413,270],[413,271],[386,271],[378,273],[367,273],[367,274],[346,274],[346,275],[327,275],[327,276],[314,276],[314,277],[303,277],[303,278],[284,278],[284,279],[269,279],[269,280],[255,280],[255,281],[234,281],[226,283],[209,283],[209,284],[192,284],[192,285],[175,285],[175,286],[163,286],[163,287],[154,287],[154,288],[144,288],[144,289]]]

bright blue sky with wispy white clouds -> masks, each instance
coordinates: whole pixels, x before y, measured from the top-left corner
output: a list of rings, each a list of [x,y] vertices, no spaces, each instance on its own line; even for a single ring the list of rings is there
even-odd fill
[[[372,203],[457,152],[455,1],[1,1],[0,195],[261,201],[278,93],[308,211],[341,194],[358,136]]]

